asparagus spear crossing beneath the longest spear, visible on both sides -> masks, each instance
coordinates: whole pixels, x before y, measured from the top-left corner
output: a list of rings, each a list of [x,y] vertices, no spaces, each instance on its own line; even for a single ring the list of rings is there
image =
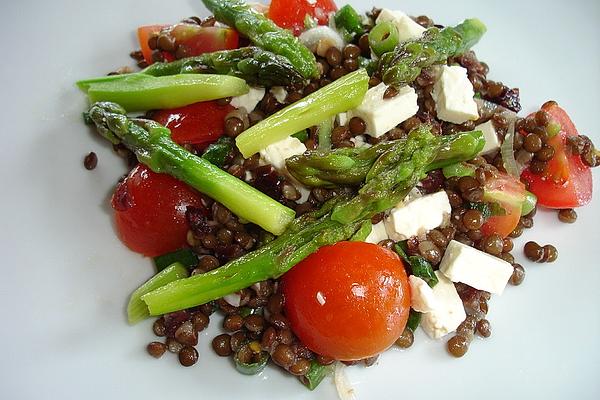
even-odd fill
[[[428,171],[474,158],[485,145],[481,131],[442,136],[440,151]],[[286,160],[288,171],[310,187],[359,185],[375,161],[390,148],[403,146],[403,139],[373,147],[340,148],[333,151],[309,151]]]

